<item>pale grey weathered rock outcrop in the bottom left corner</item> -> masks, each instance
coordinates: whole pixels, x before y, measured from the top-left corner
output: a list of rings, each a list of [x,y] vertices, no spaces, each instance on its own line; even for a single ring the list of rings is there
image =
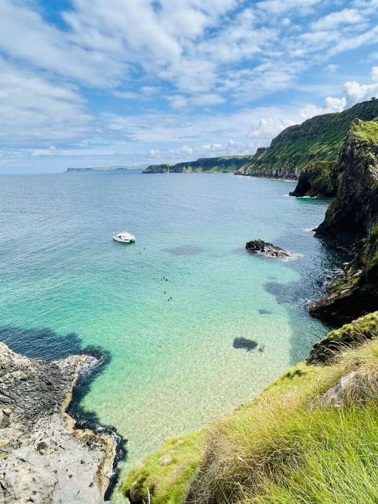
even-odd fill
[[[0,503],[103,502],[113,441],[74,430],[65,413],[87,358],[48,363],[0,343]]]

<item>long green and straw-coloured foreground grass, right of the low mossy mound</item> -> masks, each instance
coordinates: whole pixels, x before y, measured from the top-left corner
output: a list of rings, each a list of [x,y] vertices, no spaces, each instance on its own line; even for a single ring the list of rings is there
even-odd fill
[[[257,399],[211,424],[194,502],[374,502],[364,500],[366,490],[358,497],[353,488],[377,483],[378,476],[369,480],[367,474],[368,464],[378,462],[376,403],[309,408],[340,377],[363,366],[378,373],[378,341],[329,366],[301,363]],[[357,500],[348,500],[349,494]],[[342,495],[344,501],[333,500]]]

